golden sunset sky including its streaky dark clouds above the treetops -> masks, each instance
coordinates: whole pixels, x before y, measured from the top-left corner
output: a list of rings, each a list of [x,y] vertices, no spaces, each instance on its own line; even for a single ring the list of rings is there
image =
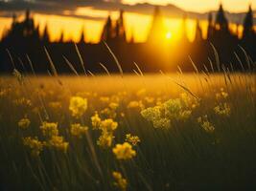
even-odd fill
[[[6,0],[7,1],[7,0]],[[120,8],[125,9],[125,25],[128,31],[128,39],[133,35],[135,41],[143,42],[147,39],[147,34],[151,27],[151,13],[153,7],[147,5],[134,5],[136,3],[151,3],[165,6],[167,4],[173,4],[184,11],[196,11],[197,15],[203,15],[203,12],[217,11],[220,2],[223,4],[223,8],[226,11],[241,12],[247,11],[249,3],[252,4],[252,8],[255,9],[256,0],[123,0],[125,4],[131,6],[120,5],[121,0],[108,0],[119,2],[118,4],[102,3],[107,0],[94,1],[92,4],[88,0],[83,0],[83,6],[65,5],[59,4],[57,0],[41,0],[43,3],[33,6],[33,16],[35,18],[35,24],[40,26],[40,31],[43,32],[44,26],[47,25],[51,34],[51,40],[58,40],[60,33],[64,32],[64,40],[79,41],[81,30],[85,31],[85,38],[88,42],[97,43],[100,40],[101,32],[103,31],[105,18],[110,13],[113,19],[118,18],[118,10]],[[47,3],[54,2],[55,6],[50,7]],[[3,2],[3,1],[2,1]],[[47,3],[45,3],[47,2]],[[66,1],[67,2],[67,1]],[[100,2],[100,3],[99,3]],[[0,0],[1,3],[1,0]],[[86,6],[86,7],[84,7]],[[8,6],[7,6],[8,7]],[[13,4],[12,11],[24,11],[25,6],[20,4]],[[19,9],[19,10],[18,10]],[[161,7],[164,10],[164,24],[166,27],[169,40],[175,40],[178,38],[182,20],[176,16],[173,16],[173,12],[176,11],[173,7]],[[5,12],[6,11],[6,12]],[[0,35],[9,29],[12,23],[11,15],[12,11],[5,10],[0,5]],[[4,16],[5,12],[9,16]],[[1,13],[2,17],[1,17]],[[177,14],[177,13],[176,13]],[[182,14],[180,14],[181,16]],[[204,17],[207,15],[204,15]],[[22,15],[20,16],[22,19]],[[241,22],[241,18],[239,19]],[[200,21],[200,26],[203,30],[203,34],[206,34],[207,23],[205,20]],[[235,29],[235,26],[232,26]],[[189,18],[187,20],[187,32],[190,40],[195,37],[196,20],[195,18]],[[241,26],[239,31],[242,31]]]

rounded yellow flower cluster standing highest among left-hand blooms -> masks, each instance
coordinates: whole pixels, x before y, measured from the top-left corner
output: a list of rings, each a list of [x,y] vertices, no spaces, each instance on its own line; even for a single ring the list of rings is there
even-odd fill
[[[87,110],[87,99],[81,96],[72,96],[70,98],[69,110],[73,117],[81,117]]]

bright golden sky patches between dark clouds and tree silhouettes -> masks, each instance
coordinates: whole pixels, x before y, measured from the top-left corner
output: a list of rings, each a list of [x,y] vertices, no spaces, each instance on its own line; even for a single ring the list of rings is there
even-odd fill
[[[124,0],[125,3],[138,3],[144,0]],[[223,7],[228,11],[246,11],[249,2],[256,5],[256,0],[221,0]],[[213,0],[148,0],[147,2],[166,4],[173,3],[183,9],[190,11],[209,11],[218,10],[220,1]],[[254,3],[255,2],[255,3]],[[94,10],[92,8],[79,8],[75,11],[76,15],[89,15],[91,17],[106,18],[109,11]],[[111,11],[111,17],[117,19],[119,12]],[[87,42],[97,43],[100,40],[101,32],[103,31],[105,20],[88,20],[68,16],[50,15],[34,13],[35,24],[40,25],[40,32],[43,31],[47,24],[51,34],[51,40],[58,40],[60,33],[64,32],[64,40],[79,41],[81,30],[85,31],[85,39]],[[5,29],[11,26],[11,18],[0,17],[0,35]],[[182,20],[177,18],[165,18],[164,24],[166,27],[167,38],[170,41],[175,41],[180,35],[180,28]],[[151,27],[151,15],[125,12],[125,26],[128,32],[128,39],[133,35],[134,40],[143,42],[147,39],[148,32]],[[206,34],[207,22],[201,21],[200,26],[203,34]],[[196,21],[192,19],[187,20],[187,32],[190,40],[195,37]],[[233,26],[233,29],[234,26]],[[240,31],[242,31],[240,27]]]

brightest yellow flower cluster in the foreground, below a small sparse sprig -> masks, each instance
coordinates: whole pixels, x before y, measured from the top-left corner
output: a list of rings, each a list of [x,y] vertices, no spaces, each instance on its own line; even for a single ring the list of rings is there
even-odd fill
[[[117,159],[132,159],[136,156],[136,151],[132,149],[132,146],[128,142],[116,144],[112,151]]]

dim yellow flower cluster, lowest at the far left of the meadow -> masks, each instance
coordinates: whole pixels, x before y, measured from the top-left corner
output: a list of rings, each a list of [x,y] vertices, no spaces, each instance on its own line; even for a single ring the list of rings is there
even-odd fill
[[[31,153],[33,156],[38,156],[43,150],[43,142],[38,140],[38,138],[23,138],[23,144],[28,146],[31,149]]]

